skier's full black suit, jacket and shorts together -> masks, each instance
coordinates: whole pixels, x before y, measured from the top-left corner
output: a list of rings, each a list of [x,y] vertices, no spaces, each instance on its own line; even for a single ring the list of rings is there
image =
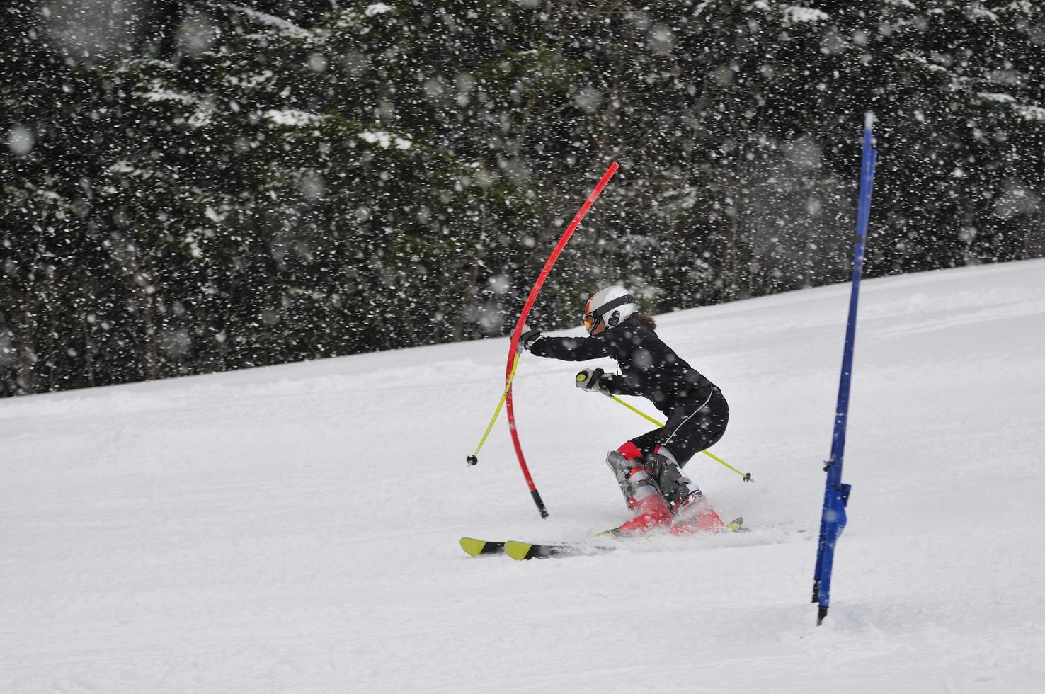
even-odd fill
[[[722,438],[729,421],[729,406],[722,391],[637,318],[590,338],[541,338],[530,351],[566,362],[600,356],[617,361],[621,373],[603,376],[599,380],[603,390],[649,398],[668,416],[664,426],[630,440],[637,448],[632,453],[648,456],[665,446],[679,465],[684,465]],[[622,453],[626,446],[621,446]]]

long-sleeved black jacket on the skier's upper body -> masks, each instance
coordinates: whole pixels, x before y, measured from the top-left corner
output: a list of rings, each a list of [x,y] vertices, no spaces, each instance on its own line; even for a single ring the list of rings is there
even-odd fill
[[[530,351],[566,362],[600,356],[616,360],[621,374],[603,376],[600,384],[606,384],[606,390],[614,395],[649,398],[669,416],[676,404],[706,402],[717,389],[635,318],[590,338],[541,338]]]

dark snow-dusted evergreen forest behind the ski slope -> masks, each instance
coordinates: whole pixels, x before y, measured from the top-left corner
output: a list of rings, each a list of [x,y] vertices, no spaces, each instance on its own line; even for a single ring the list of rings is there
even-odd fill
[[[1038,2],[0,9],[0,395],[505,334],[1045,251]]]

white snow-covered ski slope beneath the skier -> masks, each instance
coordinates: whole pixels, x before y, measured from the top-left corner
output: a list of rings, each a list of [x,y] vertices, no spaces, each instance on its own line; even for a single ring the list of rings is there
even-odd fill
[[[687,470],[752,530],[597,556],[458,546],[627,517],[603,460],[647,426],[577,364],[527,354],[515,383],[549,518],[503,420],[465,465],[505,339],[3,400],[0,691],[1042,691],[1045,261],[863,284],[817,627],[849,292],[660,318],[756,482]]]

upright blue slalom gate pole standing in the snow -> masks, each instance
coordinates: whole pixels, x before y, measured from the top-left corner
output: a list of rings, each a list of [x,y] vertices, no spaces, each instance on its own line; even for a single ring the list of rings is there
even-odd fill
[[[835,560],[835,545],[845,529],[845,506],[851,485],[842,484],[842,455],[845,450],[845,424],[849,419],[850,380],[853,376],[853,346],[856,342],[856,308],[860,296],[860,275],[863,271],[863,249],[867,242],[867,219],[870,216],[870,191],[875,181],[878,152],[872,141],[875,114],[867,111],[863,120],[863,159],[860,164],[860,202],[856,217],[856,248],[853,253],[853,290],[850,294],[849,322],[845,325],[845,347],[842,351],[842,372],[838,383],[838,404],[835,408],[835,431],[831,440],[831,460],[825,464],[828,477],[823,487],[823,510],[820,514],[820,537],[816,548],[816,571],[813,574],[813,602],[819,604],[816,624],[828,615],[831,602],[831,570]]]

